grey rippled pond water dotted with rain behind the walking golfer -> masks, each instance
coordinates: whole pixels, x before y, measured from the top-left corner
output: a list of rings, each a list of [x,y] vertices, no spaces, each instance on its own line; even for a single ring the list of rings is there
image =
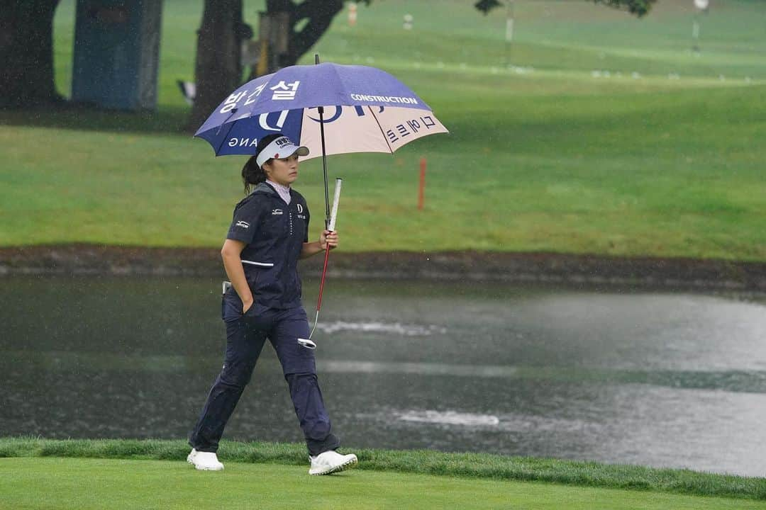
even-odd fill
[[[0,282],[0,435],[188,434],[219,281]],[[764,297],[330,281],[314,338],[348,446],[766,474]],[[301,440],[270,347],[227,437]]]

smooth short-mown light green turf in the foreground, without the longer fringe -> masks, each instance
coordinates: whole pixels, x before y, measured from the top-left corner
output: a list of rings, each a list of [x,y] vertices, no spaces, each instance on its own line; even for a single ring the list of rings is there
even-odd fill
[[[0,508],[764,508],[742,499],[458,479],[352,470],[308,476],[306,467],[227,463],[202,473],[182,462],[0,459]]]

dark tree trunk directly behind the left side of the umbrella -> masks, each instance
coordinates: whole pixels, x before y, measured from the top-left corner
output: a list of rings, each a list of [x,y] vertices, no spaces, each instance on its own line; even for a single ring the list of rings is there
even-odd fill
[[[197,32],[197,94],[188,130],[196,131],[242,80],[242,0],[205,0]]]

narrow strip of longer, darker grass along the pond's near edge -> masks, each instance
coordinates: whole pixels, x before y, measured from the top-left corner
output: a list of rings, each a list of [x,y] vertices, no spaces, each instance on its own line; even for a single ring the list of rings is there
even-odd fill
[[[187,453],[188,447],[182,440],[0,438],[0,457],[180,461],[185,460]],[[221,460],[229,463],[302,466],[300,473],[303,473],[306,466],[305,447],[300,444],[228,441],[222,443],[219,454]],[[460,479],[551,482],[601,489],[766,500],[766,479],[763,478],[483,453],[358,450],[357,454],[360,461],[359,469],[365,471],[413,473],[421,476],[446,476]],[[3,465],[0,463],[0,469]]]

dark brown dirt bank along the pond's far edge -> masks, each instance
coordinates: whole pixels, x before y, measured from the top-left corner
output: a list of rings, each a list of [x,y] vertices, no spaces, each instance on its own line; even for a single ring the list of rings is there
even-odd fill
[[[301,263],[319,271],[322,257]],[[0,248],[0,275],[113,274],[220,276],[208,248],[34,245]],[[518,281],[766,291],[766,263],[692,258],[514,252],[334,252],[332,278]]]

